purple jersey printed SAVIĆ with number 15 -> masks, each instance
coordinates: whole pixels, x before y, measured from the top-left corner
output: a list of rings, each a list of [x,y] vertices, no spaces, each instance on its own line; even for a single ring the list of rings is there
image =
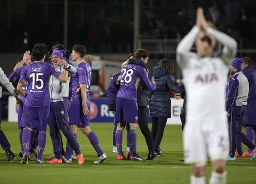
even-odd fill
[[[33,62],[24,67],[19,83],[27,83],[27,96],[24,105],[42,108],[49,105],[49,77],[59,78],[61,72],[44,62]]]

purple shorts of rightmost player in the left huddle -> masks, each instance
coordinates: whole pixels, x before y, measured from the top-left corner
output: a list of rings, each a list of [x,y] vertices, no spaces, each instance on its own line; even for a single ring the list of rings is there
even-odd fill
[[[90,106],[88,106],[90,110]],[[72,103],[68,109],[68,125],[77,125],[79,127],[90,126],[90,115],[82,113],[82,105]]]

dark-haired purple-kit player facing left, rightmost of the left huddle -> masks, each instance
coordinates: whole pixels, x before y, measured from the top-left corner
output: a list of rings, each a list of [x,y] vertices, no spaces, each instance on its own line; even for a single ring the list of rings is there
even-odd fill
[[[76,61],[76,74],[73,75],[73,88],[71,104],[68,110],[69,126],[73,131],[74,136],[77,135],[77,127],[85,134],[90,143],[97,152],[98,159],[94,161],[99,164],[106,160],[107,156],[102,151],[96,134],[90,129],[89,114],[90,114],[90,83],[92,81],[92,70],[89,63],[84,61],[86,49],[84,45],[75,45],[72,50],[72,61]],[[88,55],[89,57],[89,55]],[[64,155],[65,162],[71,162],[72,148],[67,142],[66,153]]]

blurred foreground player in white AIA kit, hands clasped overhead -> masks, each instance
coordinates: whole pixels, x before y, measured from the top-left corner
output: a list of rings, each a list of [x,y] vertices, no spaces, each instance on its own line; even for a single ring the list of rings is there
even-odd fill
[[[212,160],[210,183],[226,182],[229,153],[228,119],[225,110],[225,83],[228,63],[237,51],[237,42],[210,27],[202,8],[196,25],[177,46],[177,61],[187,91],[187,116],[183,134],[184,159],[192,164],[191,183],[205,183],[207,155]],[[216,40],[224,45],[222,55],[213,57]],[[190,52],[195,43],[197,52]]]

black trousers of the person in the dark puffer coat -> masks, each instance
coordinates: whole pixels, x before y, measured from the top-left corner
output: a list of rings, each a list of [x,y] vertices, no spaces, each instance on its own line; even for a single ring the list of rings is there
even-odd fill
[[[154,141],[155,150],[158,150],[163,138],[164,128],[166,127],[167,118],[152,117],[151,134]]]

